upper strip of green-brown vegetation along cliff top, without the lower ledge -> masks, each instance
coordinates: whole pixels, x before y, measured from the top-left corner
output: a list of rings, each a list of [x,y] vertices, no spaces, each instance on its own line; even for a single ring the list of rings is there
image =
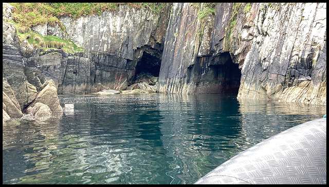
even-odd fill
[[[12,19],[22,28],[30,28],[38,24],[48,23],[51,26],[59,24],[65,30],[58,19],[60,16],[78,18],[85,15],[101,15],[105,11],[115,11],[120,5],[128,5],[131,8],[149,8],[160,11],[162,3],[9,3],[14,7]]]

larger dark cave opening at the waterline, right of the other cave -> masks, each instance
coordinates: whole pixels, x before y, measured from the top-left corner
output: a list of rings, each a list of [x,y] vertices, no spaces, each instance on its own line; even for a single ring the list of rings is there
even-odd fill
[[[234,64],[229,52],[221,53],[211,60],[210,68],[214,72],[214,80],[220,81],[222,93],[236,94],[239,92],[241,70]]]

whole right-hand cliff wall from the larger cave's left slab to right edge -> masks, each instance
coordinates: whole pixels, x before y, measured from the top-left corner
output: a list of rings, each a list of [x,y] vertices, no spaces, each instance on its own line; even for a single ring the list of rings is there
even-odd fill
[[[173,4],[160,92],[223,92],[236,65],[239,99],[326,103],[325,3],[218,3],[206,20],[197,9]]]

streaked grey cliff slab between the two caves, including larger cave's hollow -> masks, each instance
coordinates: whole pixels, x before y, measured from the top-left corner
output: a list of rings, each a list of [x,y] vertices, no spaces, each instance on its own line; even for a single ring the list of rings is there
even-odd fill
[[[202,4],[201,9],[205,9]],[[224,51],[224,26],[233,4],[218,4],[216,15],[198,18],[198,7],[175,3],[163,47],[158,91],[237,92],[241,71]],[[221,13],[219,13],[221,12]]]

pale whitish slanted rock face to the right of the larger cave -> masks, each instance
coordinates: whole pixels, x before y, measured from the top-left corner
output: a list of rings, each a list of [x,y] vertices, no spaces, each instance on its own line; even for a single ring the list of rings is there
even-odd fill
[[[316,84],[325,81],[326,67],[321,71],[315,69],[325,46],[325,4],[258,4],[257,7],[258,24],[250,28],[254,38],[241,70],[238,98],[285,100],[288,97],[283,94],[295,89],[296,98],[288,100],[298,101],[303,93],[294,85],[295,80],[320,76]],[[288,90],[283,93],[285,89]]]

